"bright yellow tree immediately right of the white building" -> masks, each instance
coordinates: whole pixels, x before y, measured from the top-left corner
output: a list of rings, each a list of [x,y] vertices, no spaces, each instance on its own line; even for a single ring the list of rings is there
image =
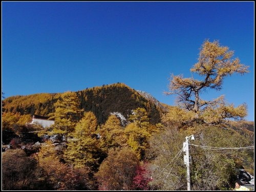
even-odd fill
[[[79,99],[75,92],[63,93],[54,103],[54,130],[66,134],[74,131],[76,123],[81,119],[83,111],[79,109]]]

